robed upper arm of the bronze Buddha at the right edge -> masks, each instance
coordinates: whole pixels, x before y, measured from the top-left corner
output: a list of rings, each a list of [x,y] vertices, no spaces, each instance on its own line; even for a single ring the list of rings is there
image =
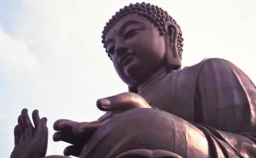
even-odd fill
[[[255,86],[233,63],[224,59],[205,60],[196,89],[201,123],[230,132],[253,128]]]

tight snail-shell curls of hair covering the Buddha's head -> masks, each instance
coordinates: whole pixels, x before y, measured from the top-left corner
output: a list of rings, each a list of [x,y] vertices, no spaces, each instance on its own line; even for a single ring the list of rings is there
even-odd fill
[[[175,25],[177,25],[177,28],[179,29],[179,35],[177,39],[177,49],[178,53],[180,56],[180,59],[182,59],[182,47],[183,47],[183,41],[184,39],[182,38],[182,32],[180,30],[180,26],[177,24],[177,22],[170,16],[166,11],[163,11],[162,8],[158,7],[157,5],[150,5],[150,3],[136,3],[136,4],[130,4],[129,6],[124,6],[124,8],[120,8],[119,12],[116,12],[116,15],[113,15],[112,18],[109,19],[109,22],[106,22],[106,26],[104,26],[103,29],[103,35],[102,37],[102,42],[105,47],[105,37],[106,33],[113,27],[113,25],[116,24],[120,20],[120,18],[123,18],[126,15],[136,13],[138,15],[141,15],[150,22],[153,22],[154,25],[158,28],[160,31],[160,35],[164,35],[164,30],[163,30],[163,24],[164,22],[170,21],[174,22]],[[109,54],[108,54],[109,56]],[[109,56],[110,57],[110,56]]]

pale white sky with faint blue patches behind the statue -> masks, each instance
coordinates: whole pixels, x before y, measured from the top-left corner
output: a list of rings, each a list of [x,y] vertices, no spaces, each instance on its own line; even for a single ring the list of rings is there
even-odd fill
[[[101,43],[111,16],[134,2],[118,0],[0,0],[0,153],[14,147],[13,128],[23,108],[48,118],[47,155],[67,143],[52,141],[57,119],[93,121],[96,100],[126,92]],[[256,1],[148,0],[183,31],[183,67],[223,58],[256,82]]]

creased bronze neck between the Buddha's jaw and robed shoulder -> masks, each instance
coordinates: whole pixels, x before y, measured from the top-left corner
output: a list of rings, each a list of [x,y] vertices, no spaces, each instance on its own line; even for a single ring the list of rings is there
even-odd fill
[[[138,86],[138,94],[142,95],[144,91],[147,91],[147,89],[154,89],[156,86],[156,82],[159,82],[161,79],[163,79],[164,76],[167,76],[168,72],[166,68],[162,68],[159,71],[157,71],[153,76],[150,77],[150,79],[147,79],[146,82],[143,82],[140,86]]]

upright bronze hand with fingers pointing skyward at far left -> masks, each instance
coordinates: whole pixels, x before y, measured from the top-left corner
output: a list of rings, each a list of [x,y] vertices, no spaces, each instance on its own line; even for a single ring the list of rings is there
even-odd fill
[[[45,156],[48,142],[47,119],[40,119],[39,111],[32,113],[34,126],[32,125],[28,109],[22,109],[18,118],[18,125],[15,126],[15,147],[11,158],[39,158]]]

